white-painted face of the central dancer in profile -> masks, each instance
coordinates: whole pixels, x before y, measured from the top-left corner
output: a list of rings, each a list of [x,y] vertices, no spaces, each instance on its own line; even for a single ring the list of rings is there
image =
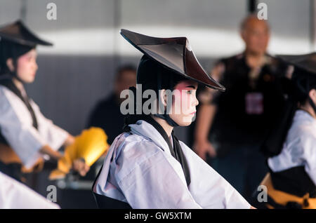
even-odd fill
[[[189,126],[195,118],[197,100],[197,82],[180,81],[173,90],[170,118],[179,126]]]

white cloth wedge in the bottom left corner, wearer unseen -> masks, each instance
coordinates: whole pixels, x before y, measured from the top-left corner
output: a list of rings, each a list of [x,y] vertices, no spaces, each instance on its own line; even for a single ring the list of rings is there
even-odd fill
[[[0,172],[0,209],[57,209],[57,204]]]

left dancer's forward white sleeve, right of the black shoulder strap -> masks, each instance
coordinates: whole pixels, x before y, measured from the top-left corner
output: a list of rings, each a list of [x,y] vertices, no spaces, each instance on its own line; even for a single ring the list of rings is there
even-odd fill
[[[32,104],[34,113],[37,116],[39,135],[43,137],[43,139],[52,149],[60,149],[62,144],[65,143],[69,133],[58,126],[55,126],[53,121],[50,119],[46,119],[46,117],[41,114],[37,104],[35,104],[32,100],[30,101],[30,104]]]

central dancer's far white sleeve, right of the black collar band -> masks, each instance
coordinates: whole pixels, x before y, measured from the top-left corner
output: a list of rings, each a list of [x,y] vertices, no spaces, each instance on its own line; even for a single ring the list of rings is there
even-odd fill
[[[190,169],[190,191],[203,208],[248,209],[251,205],[192,149],[180,142]]]

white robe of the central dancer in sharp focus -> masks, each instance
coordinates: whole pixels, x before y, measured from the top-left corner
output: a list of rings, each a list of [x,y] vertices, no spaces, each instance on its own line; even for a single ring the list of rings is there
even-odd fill
[[[250,208],[251,205],[213,168],[180,142],[190,170],[187,187],[180,163],[146,121],[129,125],[107,153],[93,188],[97,194],[132,208]]]

